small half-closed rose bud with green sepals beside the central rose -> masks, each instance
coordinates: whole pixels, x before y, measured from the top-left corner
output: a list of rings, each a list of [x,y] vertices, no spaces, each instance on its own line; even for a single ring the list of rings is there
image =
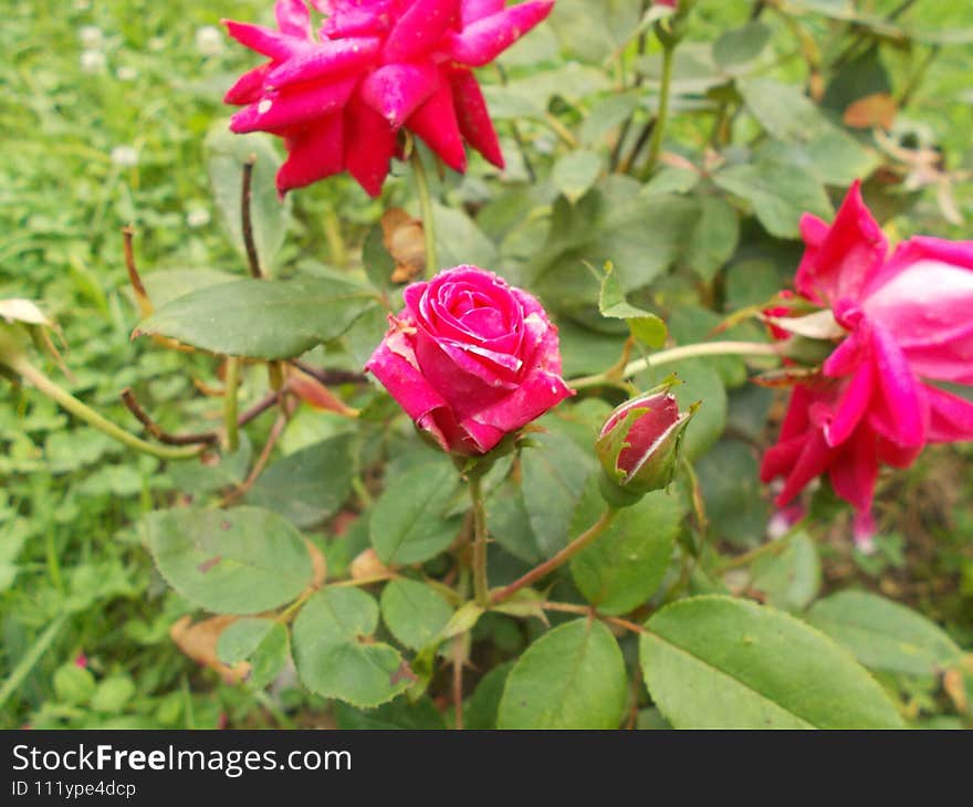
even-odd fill
[[[609,504],[625,507],[669,484],[693,411],[680,412],[676,396],[656,391],[611,412],[595,441],[605,472],[601,493]]]

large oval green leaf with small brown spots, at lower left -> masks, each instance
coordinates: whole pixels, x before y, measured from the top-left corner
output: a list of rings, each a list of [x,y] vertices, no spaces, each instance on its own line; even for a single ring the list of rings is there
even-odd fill
[[[259,614],[311,585],[304,538],[270,511],[185,507],[150,513],[143,524],[159,574],[200,608]]]

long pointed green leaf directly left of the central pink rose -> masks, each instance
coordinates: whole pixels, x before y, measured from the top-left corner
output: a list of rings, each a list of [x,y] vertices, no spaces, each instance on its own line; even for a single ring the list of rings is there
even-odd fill
[[[210,353],[284,359],[344,334],[376,305],[344,280],[238,280],[159,307],[133,336],[160,334]]]

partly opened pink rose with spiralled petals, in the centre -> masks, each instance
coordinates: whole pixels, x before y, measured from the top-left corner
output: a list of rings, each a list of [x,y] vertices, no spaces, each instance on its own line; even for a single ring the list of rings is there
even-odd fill
[[[366,369],[444,451],[483,454],[573,395],[541,303],[457,266],[405,291]]]

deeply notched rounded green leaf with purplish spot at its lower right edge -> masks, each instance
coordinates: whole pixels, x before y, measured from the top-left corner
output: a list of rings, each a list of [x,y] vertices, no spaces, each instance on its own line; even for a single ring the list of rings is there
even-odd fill
[[[304,685],[359,708],[390,701],[409,685],[398,651],[370,637],[378,604],[357,588],[325,588],[294,620],[294,663]]]

